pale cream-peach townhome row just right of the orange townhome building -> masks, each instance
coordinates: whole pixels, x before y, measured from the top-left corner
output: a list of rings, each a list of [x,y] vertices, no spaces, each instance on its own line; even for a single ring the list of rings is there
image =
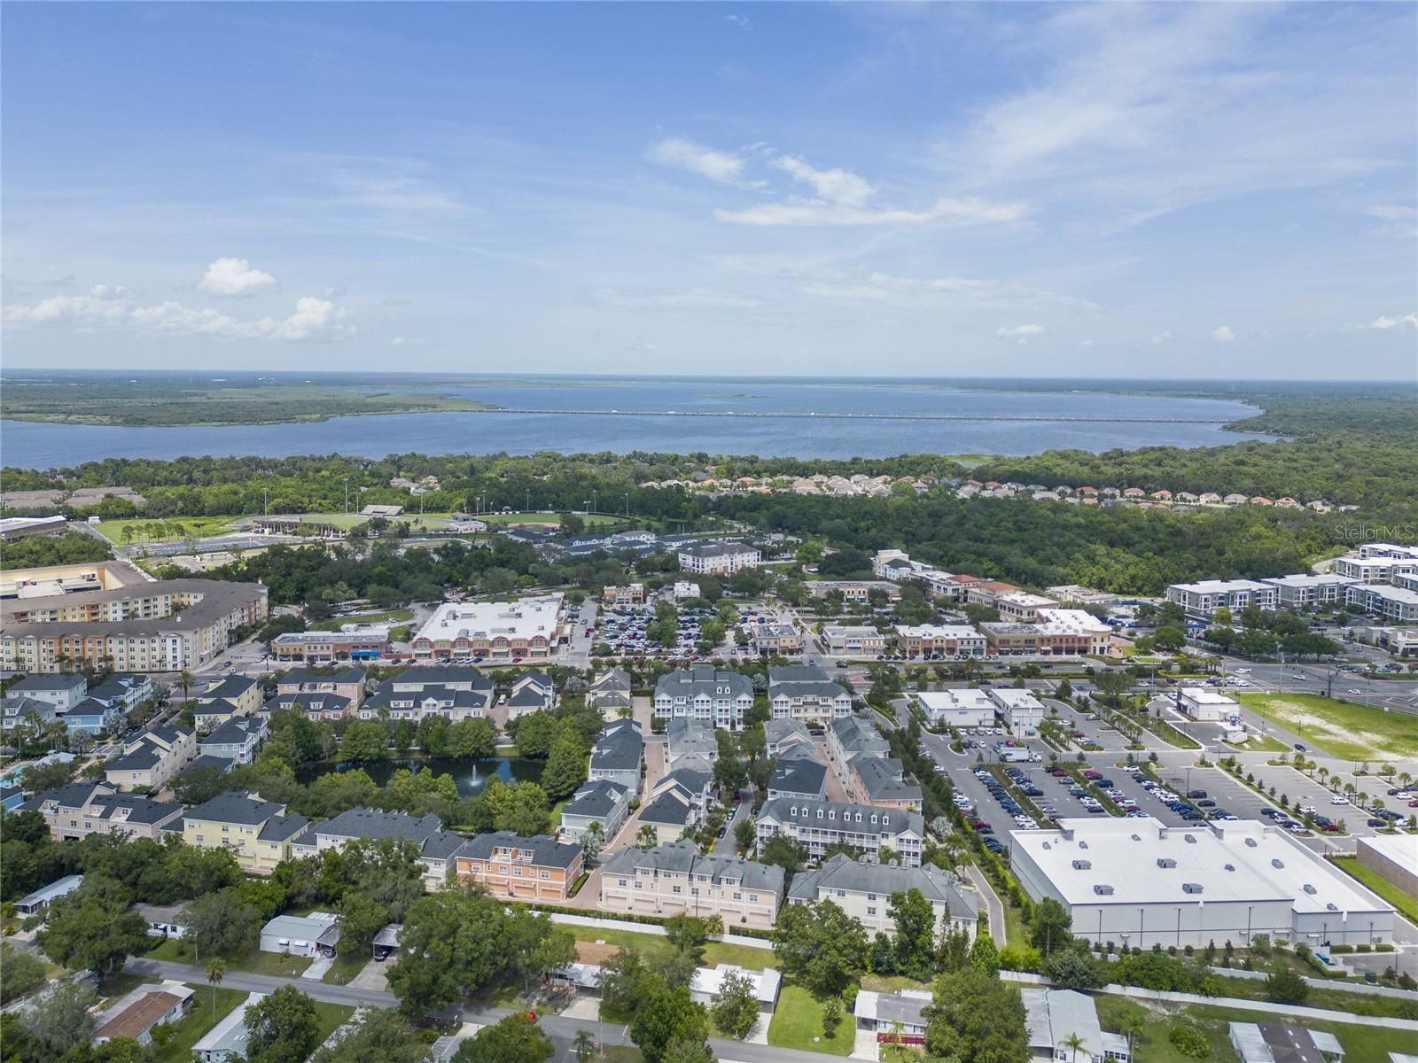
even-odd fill
[[[601,873],[601,911],[719,916],[725,927],[769,928],[783,903],[783,869],[718,853],[691,842],[621,849]]]

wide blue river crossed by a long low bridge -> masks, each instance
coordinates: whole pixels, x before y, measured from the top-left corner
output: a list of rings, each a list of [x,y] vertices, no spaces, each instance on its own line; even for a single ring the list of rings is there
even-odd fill
[[[703,451],[872,458],[922,452],[1038,454],[1056,448],[1205,446],[1241,438],[1271,438],[1222,431],[1224,421],[1256,412],[1241,403],[1092,391],[978,391],[922,381],[493,377],[440,387],[438,391],[509,410],[550,412],[390,414],[221,428],[109,428],[0,421],[0,451],[4,465],[44,469],[119,456],[352,454],[379,458],[408,452]],[[635,415],[605,415],[611,411]],[[774,412],[1001,420],[763,415]],[[1185,418],[1200,421],[1188,422]]]

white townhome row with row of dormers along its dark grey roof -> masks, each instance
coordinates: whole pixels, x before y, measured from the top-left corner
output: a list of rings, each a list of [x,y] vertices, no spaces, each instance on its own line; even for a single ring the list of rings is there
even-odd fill
[[[754,821],[761,853],[780,835],[807,849],[814,860],[834,845],[847,845],[869,860],[889,849],[908,867],[920,866],[926,823],[919,812],[838,801],[781,798],[764,801]]]

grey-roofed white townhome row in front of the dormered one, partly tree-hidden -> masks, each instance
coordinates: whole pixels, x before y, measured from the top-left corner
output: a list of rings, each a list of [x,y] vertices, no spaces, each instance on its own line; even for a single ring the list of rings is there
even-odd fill
[[[815,904],[830,900],[848,916],[861,920],[868,937],[892,935],[896,921],[891,913],[895,893],[920,890],[937,927],[951,926],[974,940],[980,924],[980,897],[976,890],[947,870],[923,863],[908,867],[899,862],[876,863],[837,853],[821,867],[798,872],[788,889],[788,903]]]

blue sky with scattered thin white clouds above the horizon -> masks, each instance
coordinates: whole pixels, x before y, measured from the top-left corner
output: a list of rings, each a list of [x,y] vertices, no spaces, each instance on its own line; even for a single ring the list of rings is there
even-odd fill
[[[10,367],[1418,377],[1414,4],[0,30]]]

